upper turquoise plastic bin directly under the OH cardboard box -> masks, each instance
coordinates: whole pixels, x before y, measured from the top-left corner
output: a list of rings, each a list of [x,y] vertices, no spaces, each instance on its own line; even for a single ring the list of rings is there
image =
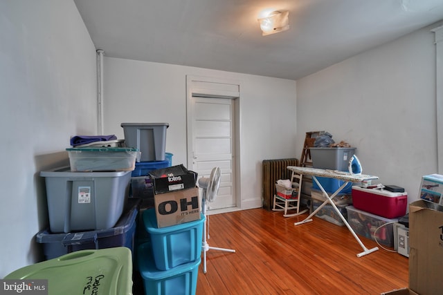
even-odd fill
[[[205,220],[203,214],[199,220],[160,229],[153,208],[146,209],[142,218],[151,238],[152,253],[158,269],[172,269],[200,258]]]

